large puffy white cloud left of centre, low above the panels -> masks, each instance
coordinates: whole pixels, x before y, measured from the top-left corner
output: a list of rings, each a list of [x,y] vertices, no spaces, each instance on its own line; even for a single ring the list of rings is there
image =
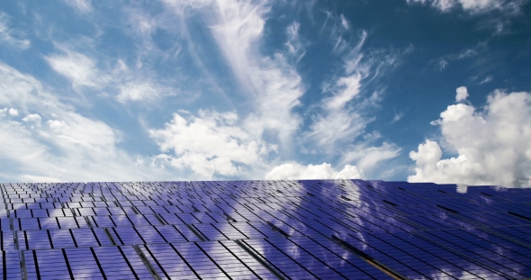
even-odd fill
[[[177,168],[190,168],[203,178],[214,175],[236,176],[242,168],[258,168],[275,146],[256,140],[241,128],[233,112],[200,111],[199,116],[175,113],[162,130],[150,130],[163,152],[162,157]]]

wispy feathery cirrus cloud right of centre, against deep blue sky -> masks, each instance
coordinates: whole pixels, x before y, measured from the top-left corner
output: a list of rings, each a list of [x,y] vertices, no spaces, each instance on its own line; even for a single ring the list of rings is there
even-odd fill
[[[331,23],[330,41],[334,43],[332,51],[342,58],[341,71],[323,83],[323,94],[328,96],[322,99],[304,136],[311,153],[339,157],[338,166],[355,165],[361,173],[371,175],[383,162],[398,157],[401,148],[382,141],[378,131],[365,131],[375,120],[374,110],[385,90],[369,85],[400,65],[412,47],[364,50],[367,32],[358,32],[353,42],[346,32],[356,31],[350,30],[345,17],[330,18],[338,22]],[[395,115],[393,122],[400,118],[400,114]]]

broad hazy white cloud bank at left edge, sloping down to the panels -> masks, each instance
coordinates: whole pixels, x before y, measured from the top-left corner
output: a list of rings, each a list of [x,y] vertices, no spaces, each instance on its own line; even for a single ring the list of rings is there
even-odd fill
[[[34,77],[3,63],[0,63],[0,105],[20,108],[26,115],[23,121],[37,121],[42,116],[51,119],[47,125],[36,128],[0,119],[0,158],[4,162],[0,177],[4,181],[170,177],[157,167],[135,165],[135,159],[117,147],[118,131],[75,113]]]

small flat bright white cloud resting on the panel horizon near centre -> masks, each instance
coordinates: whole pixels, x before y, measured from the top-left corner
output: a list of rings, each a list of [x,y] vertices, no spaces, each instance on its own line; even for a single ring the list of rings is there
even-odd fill
[[[266,180],[359,179],[362,177],[363,173],[357,167],[347,165],[338,172],[326,162],[307,167],[298,163],[285,163],[274,167],[266,174]]]

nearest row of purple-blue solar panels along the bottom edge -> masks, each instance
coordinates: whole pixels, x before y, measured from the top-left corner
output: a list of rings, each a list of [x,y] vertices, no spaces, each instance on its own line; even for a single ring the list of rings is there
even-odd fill
[[[28,279],[391,279],[328,239],[23,250]],[[4,275],[21,276],[7,253]],[[20,269],[20,268],[19,268]]]

